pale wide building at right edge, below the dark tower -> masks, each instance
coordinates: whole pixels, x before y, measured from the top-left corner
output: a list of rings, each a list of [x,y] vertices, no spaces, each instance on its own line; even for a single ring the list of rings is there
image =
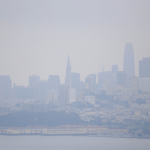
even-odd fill
[[[150,92],[150,78],[139,78],[139,90]]]

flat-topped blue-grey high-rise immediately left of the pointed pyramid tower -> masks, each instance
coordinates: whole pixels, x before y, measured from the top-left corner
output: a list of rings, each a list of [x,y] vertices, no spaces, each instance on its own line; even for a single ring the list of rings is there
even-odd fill
[[[48,90],[57,91],[57,93],[59,94],[59,88],[60,88],[59,75],[50,75],[48,78]]]

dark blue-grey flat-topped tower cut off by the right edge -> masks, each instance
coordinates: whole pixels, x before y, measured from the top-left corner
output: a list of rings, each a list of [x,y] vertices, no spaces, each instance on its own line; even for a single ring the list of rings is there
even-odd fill
[[[150,58],[139,61],[139,78],[150,78]]]

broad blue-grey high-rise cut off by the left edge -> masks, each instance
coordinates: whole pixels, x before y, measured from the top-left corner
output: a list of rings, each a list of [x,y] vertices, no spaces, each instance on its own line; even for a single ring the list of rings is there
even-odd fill
[[[0,99],[10,99],[11,98],[11,80],[10,76],[2,75],[0,76]]]

